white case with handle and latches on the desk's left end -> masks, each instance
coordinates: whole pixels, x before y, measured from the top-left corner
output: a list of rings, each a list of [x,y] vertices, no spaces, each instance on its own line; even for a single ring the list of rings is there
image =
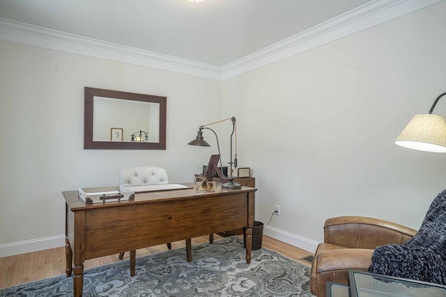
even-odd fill
[[[79,188],[79,198],[86,204],[134,200],[134,191],[123,186]]]

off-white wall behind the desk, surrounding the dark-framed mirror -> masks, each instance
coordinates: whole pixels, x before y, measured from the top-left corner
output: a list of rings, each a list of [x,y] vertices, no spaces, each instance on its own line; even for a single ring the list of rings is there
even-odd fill
[[[220,118],[221,81],[4,41],[0,65],[1,255],[63,245],[61,191],[116,185],[139,164],[192,182],[216,152],[187,143]],[[167,150],[84,150],[85,86],[166,96]]]

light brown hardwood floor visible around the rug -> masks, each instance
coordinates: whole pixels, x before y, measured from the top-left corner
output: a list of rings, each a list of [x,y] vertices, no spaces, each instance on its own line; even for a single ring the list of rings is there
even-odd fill
[[[215,234],[214,240],[221,239],[222,237]],[[208,242],[208,236],[201,236],[192,239],[192,245]],[[312,255],[311,252],[295,248],[289,244],[277,241],[268,236],[263,236],[262,246],[269,250],[274,250],[294,259],[297,262],[311,266],[308,262],[303,261],[302,257]],[[172,249],[185,248],[185,241],[176,241],[172,243]],[[144,248],[137,250],[137,257],[144,255],[155,254],[157,252],[163,252],[167,250],[167,245],[152,246],[150,248]],[[128,259],[129,252],[126,252],[123,259]],[[118,259],[118,255],[110,255],[106,257],[100,257],[97,259],[86,260],[84,268],[92,268],[104,264],[114,263],[121,261]],[[52,248],[49,250],[40,250],[38,252],[29,252],[22,255],[15,255],[10,257],[0,258],[0,289],[11,287],[16,284],[23,284],[25,282],[31,282],[33,280],[41,280],[44,278],[50,278],[56,275],[65,274],[65,247]]]

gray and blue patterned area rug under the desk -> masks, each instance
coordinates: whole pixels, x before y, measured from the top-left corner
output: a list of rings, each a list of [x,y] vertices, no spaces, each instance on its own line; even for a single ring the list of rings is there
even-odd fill
[[[123,260],[84,271],[84,296],[312,296],[309,268],[266,248],[246,264],[243,239],[231,236],[137,258],[130,277]],[[66,275],[0,289],[0,296],[72,296]]]

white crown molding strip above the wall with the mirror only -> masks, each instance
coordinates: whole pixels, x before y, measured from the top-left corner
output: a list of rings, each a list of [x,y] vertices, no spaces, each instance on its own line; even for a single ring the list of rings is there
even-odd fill
[[[221,67],[0,18],[0,40],[221,80]]]

